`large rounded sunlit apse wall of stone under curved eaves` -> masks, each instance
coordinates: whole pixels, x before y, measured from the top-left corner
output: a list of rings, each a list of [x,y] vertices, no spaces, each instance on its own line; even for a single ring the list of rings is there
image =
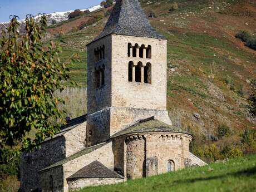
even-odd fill
[[[183,169],[185,159],[190,156],[189,143],[192,139],[190,135],[144,133],[121,138],[122,142],[126,143],[127,162],[124,164],[126,164],[127,178],[142,178],[166,173],[168,161],[174,162],[174,170]]]

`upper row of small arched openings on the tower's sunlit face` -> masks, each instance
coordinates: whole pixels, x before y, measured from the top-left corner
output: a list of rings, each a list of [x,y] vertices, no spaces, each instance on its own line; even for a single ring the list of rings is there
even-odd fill
[[[137,43],[132,46],[131,43],[128,43],[128,57],[139,57],[139,58],[151,58],[151,46],[145,45],[139,46]]]

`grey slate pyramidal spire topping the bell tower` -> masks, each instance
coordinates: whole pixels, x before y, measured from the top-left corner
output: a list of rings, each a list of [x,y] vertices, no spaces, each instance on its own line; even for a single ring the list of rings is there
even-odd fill
[[[166,39],[151,26],[138,0],[117,0],[104,30],[94,41],[110,34]]]

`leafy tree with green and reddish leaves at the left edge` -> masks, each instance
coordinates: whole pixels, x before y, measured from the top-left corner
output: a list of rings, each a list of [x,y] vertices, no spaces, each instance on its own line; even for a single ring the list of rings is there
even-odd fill
[[[60,47],[43,44],[46,23],[45,16],[39,23],[28,16],[26,35],[19,36],[14,16],[0,36],[0,163],[12,158],[4,155],[4,147],[28,151],[60,129],[63,111],[57,105],[63,101],[53,92],[63,90],[61,82],[69,75],[58,59]]]

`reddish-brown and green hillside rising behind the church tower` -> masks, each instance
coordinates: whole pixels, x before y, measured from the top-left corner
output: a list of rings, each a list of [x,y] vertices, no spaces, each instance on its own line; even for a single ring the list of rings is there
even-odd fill
[[[174,2],[178,9],[171,9]],[[212,143],[220,151],[237,147],[244,129],[255,129],[246,106],[249,82],[256,73],[256,52],[235,34],[255,35],[256,2],[142,1],[142,7],[146,14],[155,14],[149,18],[152,26],[169,40],[167,100],[173,124],[194,134],[194,151]],[[99,35],[110,9],[48,28],[48,37],[63,46],[62,61],[74,54],[79,57],[70,68],[80,86],[86,86],[86,44]],[[229,127],[229,136],[218,137],[220,125]]]

